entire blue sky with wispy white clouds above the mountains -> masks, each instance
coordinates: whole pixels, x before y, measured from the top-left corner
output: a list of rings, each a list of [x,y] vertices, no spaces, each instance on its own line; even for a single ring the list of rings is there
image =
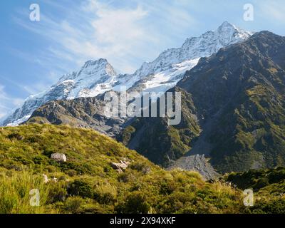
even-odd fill
[[[30,21],[31,4],[41,21]],[[254,21],[244,21],[244,4],[254,6]],[[1,1],[0,119],[89,59],[132,73],[223,21],[284,36],[284,11],[284,0]]]

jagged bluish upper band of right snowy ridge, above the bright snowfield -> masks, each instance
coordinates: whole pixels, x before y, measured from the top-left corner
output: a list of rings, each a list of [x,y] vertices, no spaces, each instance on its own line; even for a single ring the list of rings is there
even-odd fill
[[[244,31],[242,28],[224,21],[216,31],[207,31],[202,36],[187,38],[181,48],[167,49],[155,61],[143,63],[142,67],[135,72],[135,76],[149,76],[153,73],[165,71],[173,64],[210,56],[213,53],[217,53],[224,46],[244,41],[252,36],[252,34],[252,32]]]

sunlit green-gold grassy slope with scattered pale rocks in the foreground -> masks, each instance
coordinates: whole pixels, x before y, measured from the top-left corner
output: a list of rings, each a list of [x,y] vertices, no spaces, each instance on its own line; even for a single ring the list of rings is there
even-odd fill
[[[63,152],[62,164],[49,157]],[[118,173],[110,162],[133,160]],[[195,172],[167,172],[94,130],[56,125],[0,128],[0,213],[238,213],[242,195]],[[43,174],[57,182],[43,183]],[[31,189],[40,207],[29,205]]]

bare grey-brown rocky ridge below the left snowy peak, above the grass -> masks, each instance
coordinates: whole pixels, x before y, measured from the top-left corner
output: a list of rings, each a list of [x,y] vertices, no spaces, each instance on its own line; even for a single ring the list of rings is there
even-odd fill
[[[53,100],[33,112],[26,123],[51,123],[93,128],[113,137],[120,132],[123,118],[107,118],[105,102],[100,98],[77,98],[75,100]]]

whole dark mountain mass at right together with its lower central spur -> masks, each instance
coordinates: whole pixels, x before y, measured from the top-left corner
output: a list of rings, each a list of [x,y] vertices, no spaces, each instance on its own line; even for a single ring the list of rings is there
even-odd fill
[[[284,37],[262,31],[222,48],[174,89],[183,91],[181,125],[139,118],[122,133],[126,145],[162,165],[180,158],[187,167],[191,155],[219,172],[285,165]]]

